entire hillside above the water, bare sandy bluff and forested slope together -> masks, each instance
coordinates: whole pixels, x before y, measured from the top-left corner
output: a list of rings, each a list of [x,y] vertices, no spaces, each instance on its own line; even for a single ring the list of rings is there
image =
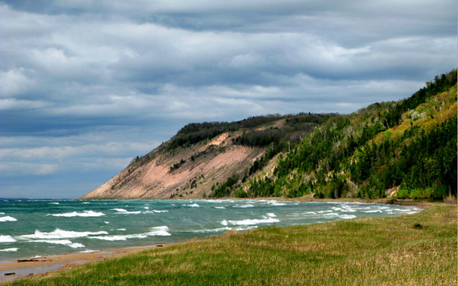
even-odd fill
[[[349,115],[191,123],[87,198],[442,198],[457,193],[457,73]]]

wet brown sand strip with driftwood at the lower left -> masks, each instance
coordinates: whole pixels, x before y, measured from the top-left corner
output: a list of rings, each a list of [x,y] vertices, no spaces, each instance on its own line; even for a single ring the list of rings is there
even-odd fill
[[[139,252],[148,249],[158,249],[177,245],[183,242],[175,242],[168,244],[154,244],[147,246],[134,246],[116,249],[104,249],[89,253],[65,253],[57,255],[44,256],[41,260],[44,261],[27,261],[18,262],[16,260],[0,261],[0,283],[6,281],[14,281],[16,279],[44,275],[49,272],[59,271],[75,267],[77,265],[86,264],[93,261],[100,261],[109,257],[120,257],[129,253]],[[24,258],[21,258],[24,259]],[[25,258],[31,259],[31,257]],[[50,259],[50,260],[45,260]],[[40,260],[40,259],[38,259]],[[9,273],[15,273],[10,274]]]

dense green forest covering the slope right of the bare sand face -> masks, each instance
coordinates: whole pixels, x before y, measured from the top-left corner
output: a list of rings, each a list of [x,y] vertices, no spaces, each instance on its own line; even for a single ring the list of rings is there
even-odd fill
[[[185,126],[182,134],[195,134],[197,128],[211,136],[224,128],[249,122],[256,126],[254,122],[270,118]],[[371,104],[349,115],[285,118],[285,128],[251,130],[233,138],[234,144],[265,147],[266,152],[245,172],[216,183],[210,196],[314,193],[317,198],[383,198],[395,191],[398,198],[442,198],[457,194],[456,70],[436,76],[398,102]],[[273,170],[263,170],[271,160],[276,160]]]

